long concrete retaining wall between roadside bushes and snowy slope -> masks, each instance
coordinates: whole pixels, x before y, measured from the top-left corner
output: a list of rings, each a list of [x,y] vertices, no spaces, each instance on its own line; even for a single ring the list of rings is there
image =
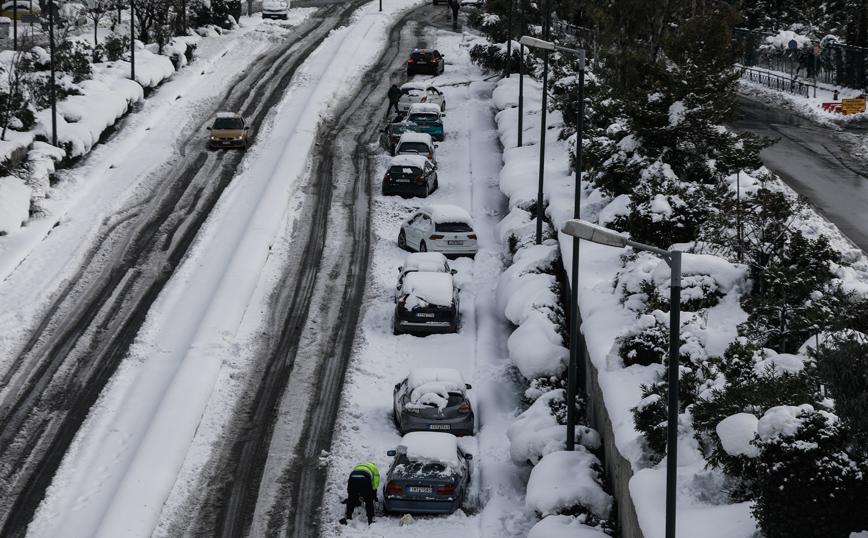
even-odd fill
[[[597,369],[591,362],[585,349],[584,364],[579,365],[581,377],[585,380],[585,394],[588,395],[588,421],[590,426],[600,433],[603,441],[604,460],[603,468],[606,472],[606,480],[615,496],[618,510],[618,525],[621,530],[621,538],[644,538],[642,529],[639,528],[639,520],[636,517],[636,507],[630,497],[630,478],[633,469],[630,462],[621,456],[615,447],[615,435],[612,431],[612,421],[603,404],[603,393],[597,382]]]

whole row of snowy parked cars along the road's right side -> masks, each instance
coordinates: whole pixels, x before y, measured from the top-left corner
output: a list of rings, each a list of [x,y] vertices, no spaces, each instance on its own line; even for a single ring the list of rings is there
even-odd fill
[[[407,71],[417,68],[439,74],[442,56],[415,49]],[[429,82],[409,82],[401,87],[398,109],[403,117],[380,136],[392,155],[382,193],[425,198],[439,186],[434,142],[444,139],[446,98]],[[411,252],[398,268],[394,333],[457,332],[460,290],[449,258],[476,255],[470,214],[455,205],[425,205],[401,224],[398,246]],[[457,437],[474,434],[470,388],[451,368],[416,368],[395,385],[393,416],[403,437],[387,453],[394,459],[383,485],[386,514],[451,514],[461,506],[472,455],[461,450]]]

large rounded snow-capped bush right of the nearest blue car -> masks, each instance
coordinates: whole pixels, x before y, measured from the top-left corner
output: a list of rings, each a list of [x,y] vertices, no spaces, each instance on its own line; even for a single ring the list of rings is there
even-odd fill
[[[548,454],[530,473],[526,506],[542,517],[569,512],[608,518],[612,497],[600,485],[599,465],[583,446]]]

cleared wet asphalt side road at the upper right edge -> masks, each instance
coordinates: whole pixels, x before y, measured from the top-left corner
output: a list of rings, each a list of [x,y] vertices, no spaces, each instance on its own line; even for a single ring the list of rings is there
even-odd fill
[[[728,127],[779,139],[760,154],[766,167],[868,252],[866,167],[842,148],[841,133],[766,103],[740,101],[742,118]]]

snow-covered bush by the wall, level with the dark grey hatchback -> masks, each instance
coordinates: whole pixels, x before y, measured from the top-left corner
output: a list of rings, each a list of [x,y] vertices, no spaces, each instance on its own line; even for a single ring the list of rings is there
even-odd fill
[[[506,430],[509,455],[513,461],[526,461],[536,465],[543,456],[566,448],[567,427],[559,424],[552,412],[553,404],[563,404],[566,394],[556,389],[543,394],[533,405],[515,419]],[[600,434],[586,426],[577,426],[575,442],[590,450],[602,446]]]

